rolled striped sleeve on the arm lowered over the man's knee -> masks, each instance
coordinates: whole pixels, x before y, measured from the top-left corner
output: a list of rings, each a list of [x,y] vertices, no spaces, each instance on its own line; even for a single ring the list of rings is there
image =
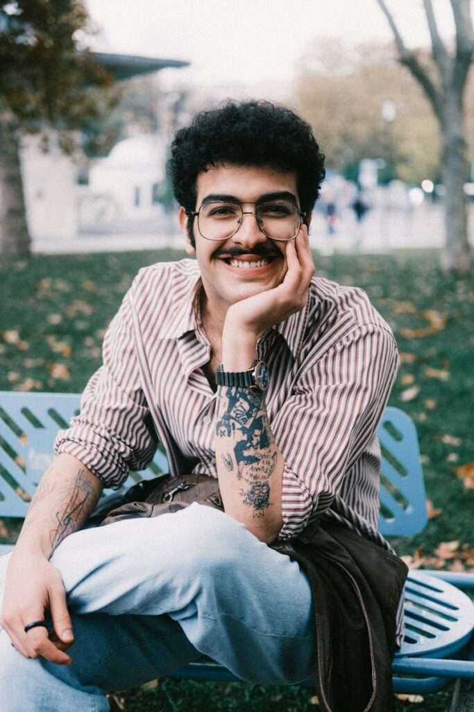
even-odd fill
[[[141,388],[132,308],[130,290],[104,337],[102,366],[82,394],[80,414],[55,441],[56,454],[74,455],[113,488],[130,469],[145,468],[157,444]]]

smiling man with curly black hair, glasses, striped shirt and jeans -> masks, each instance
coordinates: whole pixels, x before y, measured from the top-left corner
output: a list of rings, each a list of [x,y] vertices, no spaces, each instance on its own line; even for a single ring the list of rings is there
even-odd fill
[[[311,585],[269,544],[336,501],[362,535],[377,527],[376,429],[397,349],[361,290],[313,277],[324,172],[310,127],[228,103],[178,132],[169,169],[196,260],[139,273],[58,434],[6,570],[8,712],[107,710],[104,691],[200,654],[245,680],[306,679]],[[82,528],[104,484],[146,466],[158,439],[173,473],[218,478],[225,512]]]

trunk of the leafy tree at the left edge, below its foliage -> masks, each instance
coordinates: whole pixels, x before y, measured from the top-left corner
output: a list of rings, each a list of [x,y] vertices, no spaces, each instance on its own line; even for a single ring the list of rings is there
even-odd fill
[[[0,125],[0,254],[30,253],[16,131]]]

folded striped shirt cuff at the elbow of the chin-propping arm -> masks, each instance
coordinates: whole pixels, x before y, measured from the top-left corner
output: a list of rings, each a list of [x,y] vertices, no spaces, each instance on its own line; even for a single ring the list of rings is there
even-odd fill
[[[291,539],[301,534],[316,505],[311,492],[296,474],[285,465],[281,492],[281,527],[278,538]]]

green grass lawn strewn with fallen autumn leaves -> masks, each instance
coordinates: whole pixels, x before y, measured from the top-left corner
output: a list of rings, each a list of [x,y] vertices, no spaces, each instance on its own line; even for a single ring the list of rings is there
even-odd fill
[[[82,391],[100,363],[104,329],[136,271],[181,256],[144,251],[3,258],[0,389]],[[395,541],[397,550],[428,567],[473,569],[473,276],[446,277],[438,254],[426,251],[316,255],[316,266],[323,276],[364,288],[399,344],[402,365],[390,403],[416,422],[433,518],[421,535]],[[3,527],[14,538],[18,523],[4,520]],[[163,681],[156,689],[127,693],[126,709],[299,712],[317,709],[311,696],[307,690]],[[441,692],[411,707],[441,712],[447,700]],[[397,710],[405,705],[397,701]]]

